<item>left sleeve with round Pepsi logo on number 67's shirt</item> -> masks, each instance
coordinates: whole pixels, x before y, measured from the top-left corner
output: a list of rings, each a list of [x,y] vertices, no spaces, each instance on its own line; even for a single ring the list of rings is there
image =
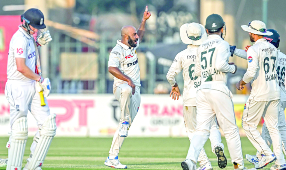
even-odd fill
[[[249,83],[253,77],[256,75],[257,69],[259,67],[258,65],[258,54],[256,53],[256,51],[249,47],[248,51],[247,51],[247,58],[248,58],[248,66],[247,66],[247,70],[246,73],[244,74],[242,80],[245,83]]]

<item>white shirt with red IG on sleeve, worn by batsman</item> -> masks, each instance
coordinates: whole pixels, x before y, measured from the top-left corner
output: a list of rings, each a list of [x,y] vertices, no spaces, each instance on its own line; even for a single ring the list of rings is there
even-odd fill
[[[8,80],[34,81],[25,77],[17,70],[16,58],[26,59],[26,66],[32,71],[36,67],[36,52],[33,43],[33,36],[29,35],[22,27],[12,36],[9,45],[7,78]]]

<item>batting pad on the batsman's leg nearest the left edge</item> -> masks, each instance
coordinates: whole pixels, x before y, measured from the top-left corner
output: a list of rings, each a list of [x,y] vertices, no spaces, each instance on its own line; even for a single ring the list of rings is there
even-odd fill
[[[7,143],[8,163],[6,170],[21,170],[28,139],[27,117],[18,118],[12,125],[11,137]]]

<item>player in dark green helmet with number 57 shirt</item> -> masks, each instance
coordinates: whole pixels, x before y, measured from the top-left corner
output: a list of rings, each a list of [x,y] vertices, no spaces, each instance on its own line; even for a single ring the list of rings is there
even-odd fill
[[[218,14],[209,15],[205,29],[208,39],[199,46],[195,64],[195,75],[201,75],[201,86],[197,90],[197,130],[193,136],[188,157],[181,163],[184,170],[194,170],[196,162],[210,130],[217,121],[225,134],[230,157],[235,169],[244,167],[239,130],[235,122],[232,93],[226,86],[227,73],[235,73],[237,66],[228,63],[228,42],[222,39],[225,22]],[[219,161],[219,160],[218,160]]]

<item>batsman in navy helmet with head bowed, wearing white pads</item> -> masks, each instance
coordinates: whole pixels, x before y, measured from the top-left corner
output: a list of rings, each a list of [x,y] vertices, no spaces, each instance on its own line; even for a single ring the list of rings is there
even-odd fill
[[[5,96],[10,104],[11,135],[7,142],[7,170],[20,170],[28,138],[28,110],[35,117],[38,131],[31,145],[30,157],[23,170],[41,170],[51,141],[56,133],[55,114],[50,115],[46,97],[51,90],[48,78],[35,73],[38,49],[52,40],[50,33],[41,32],[46,25],[44,15],[38,9],[28,9],[21,15],[22,24],[13,35],[8,54]],[[37,36],[37,42],[33,37]],[[37,68],[40,70],[40,68]],[[41,106],[40,91],[44,89],[46,106]]]

